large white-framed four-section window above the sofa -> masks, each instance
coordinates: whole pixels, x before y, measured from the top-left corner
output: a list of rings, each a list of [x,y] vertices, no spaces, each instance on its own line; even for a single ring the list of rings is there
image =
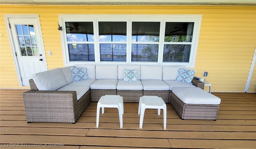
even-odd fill
[[[194,67],[201,15],[60,15],[66,65]]]

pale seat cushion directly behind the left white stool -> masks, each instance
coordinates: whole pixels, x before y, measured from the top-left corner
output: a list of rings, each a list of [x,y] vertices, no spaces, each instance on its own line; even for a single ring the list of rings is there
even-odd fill
[[[94,81],[90,88],[95,90],[116,90],[117,79],[98,79]]]

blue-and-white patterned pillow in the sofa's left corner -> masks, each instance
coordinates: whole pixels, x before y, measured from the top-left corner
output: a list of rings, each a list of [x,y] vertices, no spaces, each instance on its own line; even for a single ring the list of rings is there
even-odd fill
[[[70,67],[74,81],[88,79],[87,69],[85,67]]]

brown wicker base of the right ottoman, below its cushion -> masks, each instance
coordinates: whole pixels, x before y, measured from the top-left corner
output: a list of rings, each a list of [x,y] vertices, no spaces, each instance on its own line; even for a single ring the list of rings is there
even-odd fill
[[[182,120],[216,120],[220,105],[184,104],[174,93],[170,93],[170,104]]]

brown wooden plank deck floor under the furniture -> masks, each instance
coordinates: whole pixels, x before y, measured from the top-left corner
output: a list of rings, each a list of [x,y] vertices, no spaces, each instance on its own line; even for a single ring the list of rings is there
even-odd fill
[[[96,128],[96,102],[76,124],[27,123],[22,89],[0,89],[0,148],[133,149],[256,148],[256,94],[213,92],[221,98],[216,121],[181,120],[167,105],[167,128],[157,110],[146,110],[139,128],[138,103],[124,103],[120,129],[118,110],[106,108]],[[7,144],[6,144],[7,143]],[[60,147],[60,146],[64,147]]]

